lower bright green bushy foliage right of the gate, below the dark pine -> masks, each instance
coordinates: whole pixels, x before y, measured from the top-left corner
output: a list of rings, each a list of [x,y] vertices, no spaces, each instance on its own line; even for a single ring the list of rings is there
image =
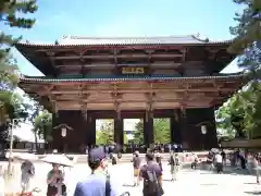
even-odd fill
[[[260,91],[261,85],[251,83],[217,110],[216,125],[217,128],[225,130],[225,136],[248,138],[261,136]]]

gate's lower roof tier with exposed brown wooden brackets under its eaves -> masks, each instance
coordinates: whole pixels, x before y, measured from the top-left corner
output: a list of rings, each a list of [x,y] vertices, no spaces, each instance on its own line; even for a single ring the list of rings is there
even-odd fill
[[[246,84],[243,74],[88,78],[21,77],[20,86],[55,110],[148,110],[222,105]]]

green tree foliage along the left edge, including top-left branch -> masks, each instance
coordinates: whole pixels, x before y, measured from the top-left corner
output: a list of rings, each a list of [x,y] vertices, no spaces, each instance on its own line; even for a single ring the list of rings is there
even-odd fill
[[[35,0],[1,0],[1,25],[30,28],[35,20],[25,19],[24,14],[34,13],[36,10]],[[0,144],[7,142],[8,127],[11,125],[12,120],[25,118],[26,107],[28,107],[22,99],[17,100],[18,95],[14,93],[18,77],[17,66],[10,54],[10,49],[20,39],[21,37],[13,38],[11,35],[4,34],[4,32],[0,33]]]

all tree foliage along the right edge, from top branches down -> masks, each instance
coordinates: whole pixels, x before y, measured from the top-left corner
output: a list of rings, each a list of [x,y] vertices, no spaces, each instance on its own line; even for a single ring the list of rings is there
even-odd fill
[[[236,13],[237,26],[231,27],[236,38],[229,52],[240,54],[238,64],[250,76],[250,82],[217,111],[217,127],[232,136],[256,138],[261,136],[261,1],[234,0],[244,4],[241,14]]]

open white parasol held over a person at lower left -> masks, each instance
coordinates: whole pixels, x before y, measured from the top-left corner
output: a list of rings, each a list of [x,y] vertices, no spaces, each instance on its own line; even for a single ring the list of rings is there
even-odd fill
[[[63,167],[73,167],[74,163],[71,161],[65,155],[47,155],[45,158],[41,159],[41,161],[47,163],[54,163],[60,164]]]

